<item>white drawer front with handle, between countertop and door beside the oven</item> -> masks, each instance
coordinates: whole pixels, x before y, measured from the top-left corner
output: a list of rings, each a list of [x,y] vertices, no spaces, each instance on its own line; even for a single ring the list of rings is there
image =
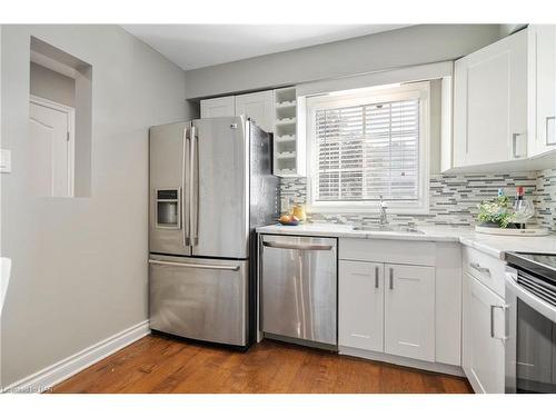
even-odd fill
[[[487,288],[504,297],[506,264],[476,249],[464,247],[463,269],[477,278]]]

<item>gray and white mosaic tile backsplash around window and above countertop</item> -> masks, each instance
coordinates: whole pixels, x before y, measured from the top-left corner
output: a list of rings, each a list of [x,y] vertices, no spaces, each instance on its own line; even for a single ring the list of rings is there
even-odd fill
[[[516,187],[525,188],[525,197],[533,199],[536,217],[529,224],[538,224],[556,231],[556,169],[523,173],[433,175],[430,177],[430,211],[428,215],[389,214],[393,224],[474,226],[477,205],[496,197],[503,188],[514,196]],[[305,178],[281,178],[281,207],[306,203]],[[378,214],[308,214],[312,222],[370,225],[378,222]]]

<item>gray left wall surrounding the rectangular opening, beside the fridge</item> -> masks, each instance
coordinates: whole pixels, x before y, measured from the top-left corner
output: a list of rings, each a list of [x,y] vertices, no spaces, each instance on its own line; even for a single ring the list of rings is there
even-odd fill
[[[147,319],[148,127],[189,115],[183,71],[119,27],[1,31],[6,386]],[[31,36],[92,64],[90,198],[27,192]]]

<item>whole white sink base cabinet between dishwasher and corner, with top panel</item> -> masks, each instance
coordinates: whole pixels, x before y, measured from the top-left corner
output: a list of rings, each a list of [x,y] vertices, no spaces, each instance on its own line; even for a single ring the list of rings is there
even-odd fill
[[[341,238],[338,350],[433,371],[461,371],[459,242]]]

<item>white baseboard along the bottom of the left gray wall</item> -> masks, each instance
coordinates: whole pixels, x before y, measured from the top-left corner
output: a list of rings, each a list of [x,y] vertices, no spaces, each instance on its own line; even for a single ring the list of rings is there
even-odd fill
[[[54,365],[18,380],[6,387],[3,391],[29,394],[43,393],[149,334],[149,320],[139,322]]]

